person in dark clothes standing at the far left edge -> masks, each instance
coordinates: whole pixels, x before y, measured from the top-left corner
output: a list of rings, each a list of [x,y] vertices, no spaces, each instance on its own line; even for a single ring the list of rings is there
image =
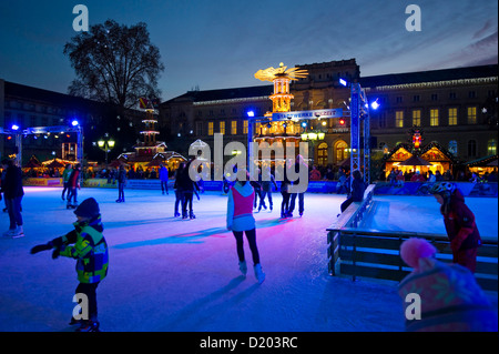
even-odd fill
[[[1,193],[6,199],[7,211],[9,212],[9,230],[3,233],[7,237],[22,237],[24,231],[22,229],[21,201],[24,195],[22,189],[22,171],[16,165],[11,159],[2,161],[6,176],[2,181]]]

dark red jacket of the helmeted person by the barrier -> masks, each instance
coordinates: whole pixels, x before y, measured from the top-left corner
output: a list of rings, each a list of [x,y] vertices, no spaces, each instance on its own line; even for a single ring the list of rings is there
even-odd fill
[[[465,204],[465,198],[459,190],[450,196],[449,205],[449,213],[444,214],[444,223],[452,251],[479,247],[481,237],[475,223],[475,214]]]

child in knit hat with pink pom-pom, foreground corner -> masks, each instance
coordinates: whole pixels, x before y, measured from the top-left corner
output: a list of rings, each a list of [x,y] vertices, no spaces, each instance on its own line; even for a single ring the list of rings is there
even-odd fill
[[[413,267],[398,287],[406,331],[497,332],[497,311],[473,274],[459,264],[437,261],[436,253],[425,239],[413,237],[400,246],[401,259]],[[419,299],[418,316],[411,299]]]

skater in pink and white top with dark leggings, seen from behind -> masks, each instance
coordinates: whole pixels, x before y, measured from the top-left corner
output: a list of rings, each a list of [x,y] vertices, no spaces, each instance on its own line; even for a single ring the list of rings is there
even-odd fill
[[[228,191],[227,198],[227,230],[232,231],[236,239],[237,257],[240,261],[240,271],[246,276],[247,264],[244,257],[244,241],[243,234],[246,234],[247,242],[249,243],[249,250],[253,256],[253,270],[258,283],[263,283],[265,280],[265,273],[262,270],[259,263],[259,253],[256,245],[256,226],[255,218],[253,216],[253,203],[255,199],[255,191],[248,180],[241,181],[237,179],[234,186]]]

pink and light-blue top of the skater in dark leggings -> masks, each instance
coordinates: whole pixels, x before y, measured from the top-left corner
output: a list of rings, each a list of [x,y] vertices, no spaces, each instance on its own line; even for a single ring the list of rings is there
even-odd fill
[[[241,185],[235,183],[228,191],[227,199],[227,229],[233,231],[246,231],[255,229],[253,216],[253,203],[255,191],[249,183]]]

